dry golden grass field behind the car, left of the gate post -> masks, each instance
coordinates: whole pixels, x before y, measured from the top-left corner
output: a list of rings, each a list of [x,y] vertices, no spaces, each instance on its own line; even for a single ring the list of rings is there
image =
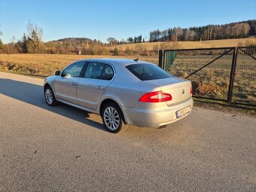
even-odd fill
[[[104,55],[50,55],[50,54],[0,54],[0,70],[4,72],[19,72],[29,75],[48,76],[54,71],[63,69],[69,63],[78,59],[90,58],[128,58],[137,56],[104,56]],[[158,56],[140,56],[148,62],[158,62]]]

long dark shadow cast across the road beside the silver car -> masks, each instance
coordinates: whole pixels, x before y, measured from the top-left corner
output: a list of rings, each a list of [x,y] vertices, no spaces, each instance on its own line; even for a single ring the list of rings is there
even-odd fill
[[[93,126],[99,130],[105,130],[102,123],[88,119],[90,114],[79,108],[59,103],[56,107],[50,107],[44,100],[43,87],[37,84],[29,84],[23,81],[14,81],[8,78],[0,78],[0,94],[20,100],[22,102],[44,108],[72,120]]]

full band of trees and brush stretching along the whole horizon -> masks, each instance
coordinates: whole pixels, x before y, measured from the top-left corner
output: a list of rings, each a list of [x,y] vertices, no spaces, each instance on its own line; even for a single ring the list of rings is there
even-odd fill
[[[135,48],[126,47],[123,54],[148,54],[139,43],[146,42],[142,35],[129,37],[126,40],[118,41],[114,37],[107,39],[108,43],[90,38],[63,38],[57,41],[43,42],[44,30],[36,23],[30,20],[26,25],[26,32],[20,40],[16,41],[13,37],[11,43],[2,44],[0,39],[0,53],[50,53],[50,54],[88,54],[88,55],[108,55],[122,54],[122,50],[114,49],[117,44],[137,44]],[[0,31],[0,35],[2,32]],[[172,48],[177,48],[177,41],[199,41],[199,40],[216,40],[226,38],[247,38],[256,35],[256,20],[248,20],[239,23],[230,23],[225,25],[208,25],[199,27],[190,27],[181,29],[174,27],[165,30],[154,30],[149,33],[151,42],[163,41],[162,47],[155,45],[152,53],[157,53],[159,48],[164,49],[172,41]]]

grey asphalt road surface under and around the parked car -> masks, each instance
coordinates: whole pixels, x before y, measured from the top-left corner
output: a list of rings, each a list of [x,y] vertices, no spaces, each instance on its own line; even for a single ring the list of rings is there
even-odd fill
[[[256,118],[194,108],[111,134],[42,83],[0,72],[0,191],[256,191]]]

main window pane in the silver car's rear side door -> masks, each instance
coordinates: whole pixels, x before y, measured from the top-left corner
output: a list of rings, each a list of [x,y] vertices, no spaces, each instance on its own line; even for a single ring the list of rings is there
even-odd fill
[[[104,63],[89,62],[84,74],[84,78],[101,79],[104,67],[105,67]]]

